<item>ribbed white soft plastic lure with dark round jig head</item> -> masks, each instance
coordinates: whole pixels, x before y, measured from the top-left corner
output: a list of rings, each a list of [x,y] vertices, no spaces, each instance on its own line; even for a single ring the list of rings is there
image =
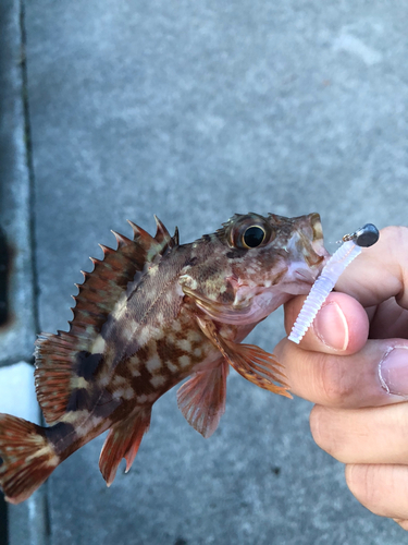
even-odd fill
[[[344,269],[361,253],[361,247],[372,246],[379,237],[379,230],[372,223],[343,237],[344,244],[332,255],[313,283],[292,328],[289,340],[299,344]]]

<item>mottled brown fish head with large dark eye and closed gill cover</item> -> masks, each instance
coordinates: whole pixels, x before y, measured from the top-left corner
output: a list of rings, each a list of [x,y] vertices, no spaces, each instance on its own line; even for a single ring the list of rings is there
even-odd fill
[[[257,323],[308,293],[329,257],[319,214],[236,214],[193,244],[180,283],[213,319]]]

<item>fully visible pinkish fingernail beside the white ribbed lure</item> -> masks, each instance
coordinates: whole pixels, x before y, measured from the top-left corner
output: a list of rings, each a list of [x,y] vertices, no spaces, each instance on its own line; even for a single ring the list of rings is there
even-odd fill
[[[337,303],[327,303],[318,313],[313,328],[319,339],[334,350],[346,350],[348,325]]]

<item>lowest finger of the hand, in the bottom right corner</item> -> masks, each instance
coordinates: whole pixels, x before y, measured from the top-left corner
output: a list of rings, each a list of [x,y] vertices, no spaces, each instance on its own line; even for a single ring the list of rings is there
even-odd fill
[[[349,464],[346,482],[353,495],[373,513],[408,519],[407,465]]]

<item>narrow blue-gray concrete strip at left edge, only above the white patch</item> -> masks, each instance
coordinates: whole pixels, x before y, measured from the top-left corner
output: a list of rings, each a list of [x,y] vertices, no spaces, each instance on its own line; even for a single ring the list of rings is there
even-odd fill
[[[0,365],[32,359],[36,334],[20,14],[20,2],[0,3],[0,251],[8,254]]]

